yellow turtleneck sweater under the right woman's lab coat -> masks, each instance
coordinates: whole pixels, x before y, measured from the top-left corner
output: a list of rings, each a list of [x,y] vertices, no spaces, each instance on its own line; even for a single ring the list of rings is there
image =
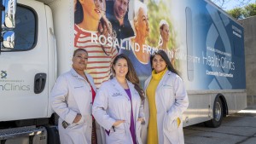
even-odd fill
[[[166,71],[167,68],[160,73],[155,73],[155,71],[153,71],[151,81],[149,82],[148,88],[146,89],[149,107],[148,144],[158,144],[155,90],[160,82],[160,79],[165,75]]]

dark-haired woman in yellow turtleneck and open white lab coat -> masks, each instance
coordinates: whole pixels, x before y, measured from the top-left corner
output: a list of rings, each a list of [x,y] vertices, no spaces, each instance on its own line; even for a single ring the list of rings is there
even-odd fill
[[[166,52],[158,50],[150,58],[152,75],[145,81],[143,140],[148,144],[183,144],[183,112],[189,106],[182,79]],[[146,142],[145,142],[146,143]]]

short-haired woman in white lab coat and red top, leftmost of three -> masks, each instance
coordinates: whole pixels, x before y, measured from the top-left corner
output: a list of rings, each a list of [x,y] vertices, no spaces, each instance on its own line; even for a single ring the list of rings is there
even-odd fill
[[[96,87],[90,75],[84,72],[88,53],[76,49],[72,60],[73,68],[61,74],[50,94],[51,107],[60,116],[61,144],[96,143],[96,135],[92,136],[96,134],[96,123],[91,116]],[[100,135],[97,137],[101,139]]]

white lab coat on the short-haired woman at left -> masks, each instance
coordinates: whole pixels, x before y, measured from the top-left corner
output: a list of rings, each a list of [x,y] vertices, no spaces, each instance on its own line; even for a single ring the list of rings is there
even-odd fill
[[[85,73],[93,89],[96,87],[93,79]],[[58,128],[61,144],[90,144],[92,128],[92,94],[90,84],[72,68],[69,72],[61,74],[57,79],[50,94],[50,104],[60,116]],[[82,118],[77,124],[73,124],[76,115],[80,113]],[[63,128],[65,120],[69,125]],[[97,128],[99,129],[98,125]],[[101,135],[97,131],[97,138],[101,143]]]

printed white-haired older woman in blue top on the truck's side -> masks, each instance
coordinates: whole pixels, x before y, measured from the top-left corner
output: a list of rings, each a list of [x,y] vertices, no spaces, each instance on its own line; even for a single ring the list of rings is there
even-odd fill
[[[125,49],[120,49],[119,53],[127,55],[136,69],[137,76],[143,86],[145,80],[151,74],[150,54],[153,50],[148,49],[146,39],[149,36],[148,9],[145,3],[135,0],[134,7],[130,9],[133,14],[133,29],[135,37],[131,37],[123,42]]]

